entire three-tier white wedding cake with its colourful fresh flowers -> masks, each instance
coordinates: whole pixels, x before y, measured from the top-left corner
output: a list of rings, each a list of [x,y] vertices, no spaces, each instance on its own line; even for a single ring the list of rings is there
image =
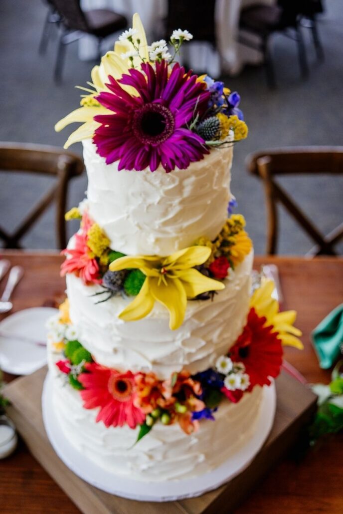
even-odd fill
[[[87,197],[67,213],[67,300],[49,322],[53,407],[65,437],[113,475],[206,473],[256,430],[282,345],[301,347],[273,283],[252,284],[232,214],[239,95],[175,62],[192,38],[147,46],[139,16],[92,70],[81,106]],[[174,56],[170,53],[174,51]]]

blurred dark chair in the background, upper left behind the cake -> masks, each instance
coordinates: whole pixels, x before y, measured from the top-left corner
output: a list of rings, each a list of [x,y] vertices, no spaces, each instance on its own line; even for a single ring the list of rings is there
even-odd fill
[[[127,19],[110,9],[83,11],[80,0],[50,0],[61,16],[60,41],[55,64],[54,79],[60,82],[66,45],[79,40],[85,33],[98,39],[98,58],[101,58],[101,43],[108,35],[127,27]]]

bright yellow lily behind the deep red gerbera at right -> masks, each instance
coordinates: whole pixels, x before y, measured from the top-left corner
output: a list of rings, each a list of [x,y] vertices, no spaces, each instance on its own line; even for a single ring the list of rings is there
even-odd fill
[[[297,313],[295,310],[279,312],[279,302],[272,298],[274,287],[272,280],[262,280],[261,286],[251,297],[250,306],[254,307],[258,316],[266,318],[265,326],[273,325],[273,332],[278,332],[282,344],[302,350],[303,344],[298,339],[302,333],[293,326]]]

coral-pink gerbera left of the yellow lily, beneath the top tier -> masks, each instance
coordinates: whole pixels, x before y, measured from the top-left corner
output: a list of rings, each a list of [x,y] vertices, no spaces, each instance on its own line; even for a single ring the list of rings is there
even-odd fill
[[[66,248],[61,253],[67,256],[61,266],[61,277],[66,273],[75,273],[84,284],[101,284],[99,264],[89,256],[85,232],[75,234],[74,248]]]

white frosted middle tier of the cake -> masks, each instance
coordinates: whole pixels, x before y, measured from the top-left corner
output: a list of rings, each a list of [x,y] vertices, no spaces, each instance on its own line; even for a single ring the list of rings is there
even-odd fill
[[[101,286],[85,286],[67,275],[70,318],[82,344],[98,363],[132,372],[153,371],[167,379],[182,369],[192,374],[214,364],[235,343],[246,322],[253,252],[225,279],[213,300],[189,300],[183,324],[169,328],[168,312],[156,303],[139,321],[118,318],[131,301],[120,296],[96,304]]]

